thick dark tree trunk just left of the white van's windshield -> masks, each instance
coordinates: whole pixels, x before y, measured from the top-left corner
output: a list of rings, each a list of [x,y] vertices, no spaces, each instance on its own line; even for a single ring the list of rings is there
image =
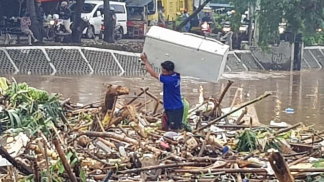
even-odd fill
[[[87,22],[81,18],[84,0],[76,0],[76,9],[74,11],[72,26],[72,42],[81,43],[82,32],[87,27]]]

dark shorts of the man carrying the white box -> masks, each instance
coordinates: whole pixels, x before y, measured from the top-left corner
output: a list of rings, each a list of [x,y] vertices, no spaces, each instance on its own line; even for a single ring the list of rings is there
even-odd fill
[[[182,126],[182,118],[183,118],[183,108],[180,109],[172,109],[172,110],[165,110],[168,116],[168,126],[171,129],[180,129]]]

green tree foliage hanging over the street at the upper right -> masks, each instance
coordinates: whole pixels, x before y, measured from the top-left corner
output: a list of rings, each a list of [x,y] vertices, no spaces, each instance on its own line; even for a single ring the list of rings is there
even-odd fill
[[[238,32],[241,16],[248,10],[248,5],[258,7],[257,0],[213,0],[213,3],[230,3],[236,13],[229,18],[231,28]],[[291,33],[292,41],[302,36],[305,45],[323,45],[324,0],[260,0],[260,11],[252,13],[252,18],[259,14],[259,45],[267,47],[278,43],[279,24],[286,23],[286,32]]]

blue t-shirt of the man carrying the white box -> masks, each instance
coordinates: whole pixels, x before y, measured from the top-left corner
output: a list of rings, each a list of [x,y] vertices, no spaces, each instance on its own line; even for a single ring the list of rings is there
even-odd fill
[[[180,93],[180,74],[172,75],[160,74],[160,82],[163,83],[163,105],[164,109],[183,108]]]

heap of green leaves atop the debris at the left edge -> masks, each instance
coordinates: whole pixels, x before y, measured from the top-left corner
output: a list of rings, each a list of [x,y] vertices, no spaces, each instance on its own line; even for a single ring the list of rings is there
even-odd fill
[[[39,130],[47,135],[58,120],[66,122],[57,94],[48,94],[15,80],[9,84],[5,78],[0,80],[0,104],[8,108],[0,112],[4,129],[22,128],[31,134]]]

